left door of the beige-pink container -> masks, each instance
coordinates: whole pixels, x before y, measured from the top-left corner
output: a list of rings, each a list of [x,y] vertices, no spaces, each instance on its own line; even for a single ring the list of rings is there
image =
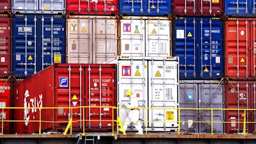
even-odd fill
[[[92,63],[92,20],[67,19],[67,63]]]

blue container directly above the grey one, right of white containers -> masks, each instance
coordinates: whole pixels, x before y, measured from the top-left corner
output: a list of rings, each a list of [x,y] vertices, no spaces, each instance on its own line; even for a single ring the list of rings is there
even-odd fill
[[[223,77],[223,21],[215,17],[176,17],[173,56],[180,57],[180,79]]]

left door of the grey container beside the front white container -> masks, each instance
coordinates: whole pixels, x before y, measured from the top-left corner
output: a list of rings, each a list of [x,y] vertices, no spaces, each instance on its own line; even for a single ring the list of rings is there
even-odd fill
[[[198,110],[190,110],[198,108],[198,86],[193,81],[180,81],[179,91],[179,104],[180,108],[180,130],[186,132],[198,132],[199,125],[195,121]]]

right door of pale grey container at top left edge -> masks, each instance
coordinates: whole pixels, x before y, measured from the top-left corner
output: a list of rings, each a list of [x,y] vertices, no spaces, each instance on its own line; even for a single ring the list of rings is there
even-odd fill
[[[65,12],[65,1],[64,0],[40,0],[42,3],[39,4],[39,10],[47,13],[64,13]]]

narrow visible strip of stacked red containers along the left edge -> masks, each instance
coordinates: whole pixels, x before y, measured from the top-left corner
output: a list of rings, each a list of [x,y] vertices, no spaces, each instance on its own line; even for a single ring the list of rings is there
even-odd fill
[[[10,107],[12,104],[12,65],[11,65],[11,1],[0,1],[0,106],[1,108]],[[9,120],[1,122],[0,134],[9,134],[12,132],[10,120],[12,120],[11,109],[1,109],[0,120]]]

